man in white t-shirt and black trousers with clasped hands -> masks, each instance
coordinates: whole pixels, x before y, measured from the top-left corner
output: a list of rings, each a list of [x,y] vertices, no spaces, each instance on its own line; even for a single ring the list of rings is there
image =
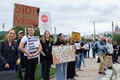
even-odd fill
[[[27,30],[28,35],[22,38],[19,49],[25,56],[24,80],[35,80],[36,65],[42,46],[40,44],[39,36],[34,36],[34,28],[28,27]]]

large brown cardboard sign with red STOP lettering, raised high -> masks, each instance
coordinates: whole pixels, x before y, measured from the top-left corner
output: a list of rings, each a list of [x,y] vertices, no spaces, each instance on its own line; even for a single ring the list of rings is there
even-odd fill
[[[15,27],[38,27],[39,8],[21,4],[14,5],[13,26]]]

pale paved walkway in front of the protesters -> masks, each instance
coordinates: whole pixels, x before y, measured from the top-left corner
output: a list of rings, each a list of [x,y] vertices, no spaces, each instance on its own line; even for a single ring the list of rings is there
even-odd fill
[[[112,71],[107,70],[107,75],[98,74],[99,64],[96,63],[96,59],[87,58],[85,59],[86,67],[82,66],[83,71],[78,71],[77,74],[79,77],[76,77],[76,80],[109,80]],[[51,80],[56,80],[53,78]]]

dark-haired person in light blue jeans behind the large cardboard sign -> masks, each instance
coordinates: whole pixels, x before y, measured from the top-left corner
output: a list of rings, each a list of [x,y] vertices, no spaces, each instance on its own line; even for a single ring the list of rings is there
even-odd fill
[[[55,43],[56,46],[66,45],[64,41],[64,34],[58,34],[57,41]],[[67,80],[67,62],[56,64],[56,80]]]

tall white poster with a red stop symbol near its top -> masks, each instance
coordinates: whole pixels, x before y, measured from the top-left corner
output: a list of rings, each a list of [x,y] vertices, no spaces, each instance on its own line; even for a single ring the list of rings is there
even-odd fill
[[[44,35],[44,32],[47,30],[50,34],[52,32],[52,24],[51,24],[51,16],[49,12],[41,12],[40,13],[40,34]]]

